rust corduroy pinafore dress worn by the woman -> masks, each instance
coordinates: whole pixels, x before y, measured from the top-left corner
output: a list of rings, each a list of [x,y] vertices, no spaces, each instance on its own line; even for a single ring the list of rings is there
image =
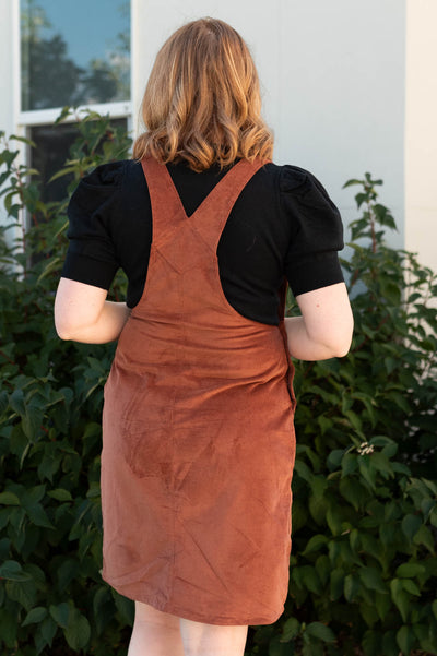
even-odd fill
[[[238,162],[187,216],[164,165],[142,162],[153,241],[144,293],[105,386],[103,577],[212,624],[283,611],[294,398],[283,326],[224,296],[222,230],[261,162]]]

